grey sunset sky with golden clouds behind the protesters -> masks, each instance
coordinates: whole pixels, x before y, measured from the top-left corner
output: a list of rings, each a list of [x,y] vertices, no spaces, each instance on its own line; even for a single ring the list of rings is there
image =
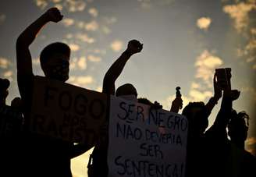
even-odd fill
[[[256,0],[2,0],[0,76],[11,81],[7,104],[19,96],[16,38],[52,6],[64,18],[48,23],[31,44],[34,74],[43,75],[41,49],[63,41],[72,49],[68,83],[101,91],[107,69],[137,39],[144,48],[127,62],[116,86],[133,83],[138,97],[169,110],[177,86],[184,105],[206,103],[215,69],[230,67],[232,88],[241,91],[233,108],[250,115],[247,150],[255,154]],[[210,125],[218,111],[219,105]],[[87,154],[72,161],[74,176],[87,176]]]

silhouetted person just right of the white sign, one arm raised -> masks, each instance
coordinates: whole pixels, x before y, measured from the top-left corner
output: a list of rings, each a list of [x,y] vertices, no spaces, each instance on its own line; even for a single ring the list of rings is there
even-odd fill
[[[190,102],[183,108],[182,115],[185,115],[188,120],[187,132],[187,163],[186,176],[200,176],[201,165],[204,164],[204,131],[208,127],[208,117],[222,97],[222,90],[216,81],[216,76],[213,77],[214,95],[207,104],[204,102]],[[198,163],[194,163],[197,159]]]

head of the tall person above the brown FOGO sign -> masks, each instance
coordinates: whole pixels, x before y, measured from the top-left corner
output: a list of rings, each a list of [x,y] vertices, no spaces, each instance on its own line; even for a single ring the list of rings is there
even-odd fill
[[[70,48],[62,42],[48,44],[41,51],[40,62],[44,75],[65,82],[69,79]]]

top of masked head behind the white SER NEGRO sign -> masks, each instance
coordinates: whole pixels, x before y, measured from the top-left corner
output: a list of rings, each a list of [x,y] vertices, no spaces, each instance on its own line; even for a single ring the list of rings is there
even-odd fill
[[[116,97],[123,97],[126,100],[137,99],[137,90],[131,83],[123,84],[116,89]]]

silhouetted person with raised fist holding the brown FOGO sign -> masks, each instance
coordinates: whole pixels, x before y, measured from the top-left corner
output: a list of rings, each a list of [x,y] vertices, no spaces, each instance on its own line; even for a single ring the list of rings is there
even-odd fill
[[[17,80],[25,117],[23,163],[19,164],[22,165],[20,175],[71,177],[70,159],[87,150],[85,147],[74,147],[73,143],[28,131],[34,83],[29,47],[46,23],[58,23],[62,17],[57,8],[48,9],[30,24],[16,41]],[[66,82],[69,79],[69,57],[70,48],[67,44],[62,42],[48,44],[40,55],[41,69],[45,77]]]

